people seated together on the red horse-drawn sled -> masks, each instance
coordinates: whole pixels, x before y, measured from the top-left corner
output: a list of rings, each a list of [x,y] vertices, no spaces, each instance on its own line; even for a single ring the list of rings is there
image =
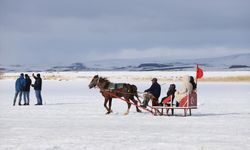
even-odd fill
[[[176,106],[178,107],[179,102],[183,97],[188,94],[191,94],[194,90],[196,90],[196,83],[194,81],[193,76],[183,76],[181,77],[182,80],[182,87],[180,90],[176,90],[175,84],[170,84],[169,89],[167,91],[167,96],[172,96],[172,104],[173,100],[176,97]],[[141,104],[141,107],[147,107],[148,102],[152,100],[152,105],[162,105],[164,98],[162,98],[161,102],[158,103],[158,99],[161,95],[161,85],[157,82],[156,78],[153,78],[152,85],[149,89],[145,90],[145,94],[143,95],[144,101]]]

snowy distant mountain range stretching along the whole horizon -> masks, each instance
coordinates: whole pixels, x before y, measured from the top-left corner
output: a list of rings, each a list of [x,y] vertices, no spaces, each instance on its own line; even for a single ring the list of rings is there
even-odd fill
[[[162,71],[193,70],[199,64],[205,70],[249,70],[250,53],[217,58],[167,60],[167,59],[114,59],[73,63],[70,65],[0,65],[2,72],[65,72],[65,71]]]

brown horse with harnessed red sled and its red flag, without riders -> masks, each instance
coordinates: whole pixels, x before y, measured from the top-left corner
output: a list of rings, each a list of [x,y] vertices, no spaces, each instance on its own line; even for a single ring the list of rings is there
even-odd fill
[[[198,74],[200,70],[198,70],[197,66],[197,74],[196,74],[196,83],[197,79],[201,78],[201,75]],[[202,71],[202,70],[201,70]],[[128,83],[112,83],[108,79],[99,77],[95,75],[89,84],[89,88],[98,87],[100,89],[100,93],[104,97],[104,107],[106,108],[106,114],[110,114],[112,112],[112,99],[118,98],[119,100],[125,101],[128,105],[127,111],[124,113],[127,115],[131,108],[131,105],[136,107],[137,112],[141,112],[140,109],[150,112],[155,116],[169,116],[169,110],[172,111],[172,115],[174,115],[174,110],[183,109],[184,115],[192,115],[191,110],[197,109],[197,91],[194,90],[192,93],[184,95],[177,105],[173,104],[173,97],[168,96],[162,101],[162,105],[158,104],[158,99],[152,99],[152,106],[142,107],[141,100],[139,99],[139,94],[137,91],[137,87]],[[136,99],[135,99],[136,98]],[[107,105],[108,104],[108,105]],[[140,109],[139,109],[140,108]],[[165,113],[164,113],[165,111]]]

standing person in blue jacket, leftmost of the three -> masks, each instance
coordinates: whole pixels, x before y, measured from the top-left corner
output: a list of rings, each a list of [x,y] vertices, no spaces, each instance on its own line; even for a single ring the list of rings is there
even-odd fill
[[[16,85],[15,85],[16,92],[15,92],[13,106],[15,106],[15,104],[16,104],[16,99],[17,99],[18,95],[19,95],[18,105],[21,105],[22,95],[23,95],[23,90],[24,90],[25,84],[26,84],[26,81],[24,79],[24,75],[23,75],[23,73],[21,73],[20,77],[16,80]]]

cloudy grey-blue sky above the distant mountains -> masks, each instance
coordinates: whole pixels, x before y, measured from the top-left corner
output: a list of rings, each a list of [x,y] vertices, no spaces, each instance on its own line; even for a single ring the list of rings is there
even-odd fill
[[[0,0],[0,64],[250,53],[249,0]]]

